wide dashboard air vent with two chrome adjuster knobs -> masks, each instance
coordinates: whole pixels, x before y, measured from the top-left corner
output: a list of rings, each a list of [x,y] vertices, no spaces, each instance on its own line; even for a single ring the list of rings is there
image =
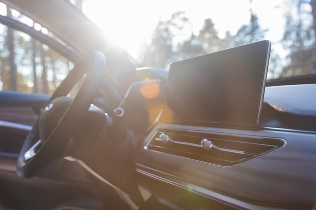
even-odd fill
[[[184,130],[159,130],[146,146],[221,166],[234,166],[281,148],[283,139]]]

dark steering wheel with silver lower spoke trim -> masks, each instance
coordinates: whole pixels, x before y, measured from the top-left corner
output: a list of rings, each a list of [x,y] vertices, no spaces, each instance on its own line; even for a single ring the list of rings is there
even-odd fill
[[[25,142],[17,161],[17,173],[31,178],[50,162],[67,156],[71,137],[93,102],[106,67],[106,58],[94,51],[80,59],[52,94]],[[66,97],[84,77],[74,98]]]

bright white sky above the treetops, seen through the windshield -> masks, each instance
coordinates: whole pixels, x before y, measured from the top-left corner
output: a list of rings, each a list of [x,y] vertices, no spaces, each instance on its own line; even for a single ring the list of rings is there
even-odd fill
[[[269,29],[266,39],[276,43],[284,27],[283,0],[85,0],[83,12],[117,44],[137,57],[139,44],[148,40],[161,18],[168,20],[174,12],[184,11],[193,24],[194,33],[203,20],[211,18],[220,36],[227,30],[232,34],[250,20],[250,8],[259,18],[261,28]]]

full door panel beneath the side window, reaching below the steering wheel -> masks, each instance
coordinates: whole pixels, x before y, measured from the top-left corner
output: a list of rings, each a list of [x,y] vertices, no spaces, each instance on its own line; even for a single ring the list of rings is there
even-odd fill
[[[101,209],[108,190],[76,161],[56,160],[32,179],[16,174],[20,149],[48,99],[0,92],[0,209],[60,209],[63,203],[74,209]]]

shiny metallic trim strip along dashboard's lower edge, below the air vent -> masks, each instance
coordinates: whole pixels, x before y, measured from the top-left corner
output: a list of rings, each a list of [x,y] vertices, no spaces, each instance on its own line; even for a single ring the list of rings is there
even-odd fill
[[[141,166],[139,164],[136,164],[136,165],[140,166],[140,167],[145,167],[145,166]],[[145,168],[147,168],[147,167],[145,167]],[[199,187],[199,186],[196,186],[193,184],[186,183],[186,182],[178,180],[174,177],[169,176],[167,178],[166,175],[164,175],[164,174],[162,174],[161,176],[157,176],[157,175],[154,175],[152,173],[149,173],[149,172],[144,171],[144,170],[139,169],[139,168],[136,168],[136,171],[140,174],[143,174],[143,175],[150,177],[150,178],[153,178],[155,180],[159,180],[159,181],[171,184],[173,186],[180,187],[180,188],[185,189],[185,190],[189,190],[189,191],[194,192],[196,194],[202,195],[204,197],[216,200],[218,202],[221,202],[223,204],[226,204],[226,205],[229,205],[229,206],[232,206],[234,208],[241,209],[241,210],[250,210],[250,209],[285,210],[284,208],[278,208],[278,207],[272,207],[272,206],[261,206],[261,205],[247,203],[247,202],[244,202],[244,201],[241,201],[241,200],[238,200],[238,199],[235,199],[235,198],[232,198],[232,197],[229,197],[229,196],[226,196],[226,195],[223,195],[223,194],[211,191],[211,190],[204,189],[202,187]],[[165,177],[163,177],[163,176],[165,176]]]

